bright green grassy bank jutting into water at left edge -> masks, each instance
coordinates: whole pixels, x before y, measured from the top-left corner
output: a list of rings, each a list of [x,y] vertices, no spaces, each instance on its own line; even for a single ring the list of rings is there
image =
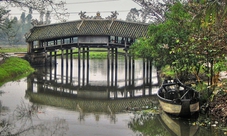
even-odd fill
[[[17,57],[7,58],[0,64],[0,86],[5,82],[24,77],[33,71],[34,69],[26,60]]]

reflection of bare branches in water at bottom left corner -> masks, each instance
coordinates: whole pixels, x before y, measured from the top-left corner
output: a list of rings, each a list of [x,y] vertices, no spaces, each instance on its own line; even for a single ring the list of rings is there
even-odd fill
[[[13,114],[1,118],[1,136],[25,136],[25,135],[64,135],[68,130],[68,124],[64,119],[55,118],[53,122],[37,122],[39,105],[21,102]],[[1,117],[1,116],[0,116]]]

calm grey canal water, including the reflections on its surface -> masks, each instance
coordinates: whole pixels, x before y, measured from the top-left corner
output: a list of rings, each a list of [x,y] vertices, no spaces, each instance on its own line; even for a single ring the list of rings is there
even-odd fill
[[[159,110],[157,71],[143,60],[108,66],[92,59],[77,66],[57,59],[28,77],[0,87],[0,135],[213,136],[197,116],[179,119]],[[147,113],[147,109],[153,111]],[[143,111],[141,111],[143,110]],[[144,111],[145,110],[145,111]]]

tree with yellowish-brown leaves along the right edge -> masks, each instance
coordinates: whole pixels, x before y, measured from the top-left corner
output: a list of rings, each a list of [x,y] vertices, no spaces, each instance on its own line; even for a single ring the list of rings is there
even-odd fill
[[[227,1],[198,1],[190,3],[194,18],[194,32],[191,35],[200,56],[206,58],[209,85],[216,85],[219,72],[226,70]]]

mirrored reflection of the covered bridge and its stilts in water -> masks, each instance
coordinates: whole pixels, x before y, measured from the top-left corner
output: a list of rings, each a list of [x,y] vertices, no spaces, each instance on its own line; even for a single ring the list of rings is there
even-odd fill
[[[73,59],[70,67],[61,59],[56,61],[56,66],[37,68],[27,77],[26,95],[30,101],[111,114],[126,107],[157,103],[157,72],[149,61],[133,60],[133,65],[128,65],[120,59],[115,63],[89,60],[87,65],[80,66],[78,59]]]

